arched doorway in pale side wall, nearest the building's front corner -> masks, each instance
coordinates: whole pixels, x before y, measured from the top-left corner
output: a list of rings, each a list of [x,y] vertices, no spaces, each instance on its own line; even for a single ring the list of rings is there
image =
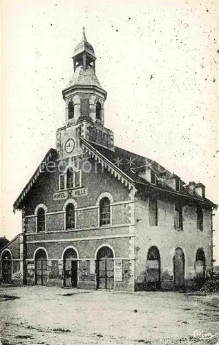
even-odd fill
[[[146,286],[155,290],[160,288],[160,253],[155,246],[149,248],[146,257]]]

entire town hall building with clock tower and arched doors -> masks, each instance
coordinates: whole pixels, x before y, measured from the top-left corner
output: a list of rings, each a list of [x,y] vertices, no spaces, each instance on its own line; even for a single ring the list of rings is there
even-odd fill
[[[66,123],[14,204],[22,233],[1,249],[1,282],[88,289],[202,284],[213,258],[204,185],[115,146],[85,34],[62,92]],[[107,114],[106,114],[107,116]]]

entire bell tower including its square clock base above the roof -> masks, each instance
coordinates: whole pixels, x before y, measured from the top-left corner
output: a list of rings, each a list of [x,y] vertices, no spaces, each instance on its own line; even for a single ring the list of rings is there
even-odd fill
[[[72,59],[73,76],[67,88],[62,91],[66,103],[66,121],[65,126],[57,130],[57,151],[61,158],[77,155],[80,151],[80,137],[114,150],[113,131],[104,127],[104,102],[107,92],[97,79],[95,52],[86,39],[85,28]],[[74,150],[70,150],[66,141],[68,144],[74,142]]]

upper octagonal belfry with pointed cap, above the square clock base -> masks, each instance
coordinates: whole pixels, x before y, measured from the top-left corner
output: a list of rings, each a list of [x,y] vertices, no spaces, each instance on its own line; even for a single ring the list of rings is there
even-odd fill
[[[62,95],[66,101],[66,126],[82,119],[104,126],[104,101],[106,91],[95,73],[95,52],[88,43],[83,28],[82,41],[74,50],[74,72],[69,86]]]

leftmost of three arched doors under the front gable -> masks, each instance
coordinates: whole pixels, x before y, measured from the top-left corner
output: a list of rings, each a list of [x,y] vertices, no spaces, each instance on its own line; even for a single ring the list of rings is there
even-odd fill
[[[47,284],[47,254],[44,249],[37,250],[35,254],[35,284]]]

